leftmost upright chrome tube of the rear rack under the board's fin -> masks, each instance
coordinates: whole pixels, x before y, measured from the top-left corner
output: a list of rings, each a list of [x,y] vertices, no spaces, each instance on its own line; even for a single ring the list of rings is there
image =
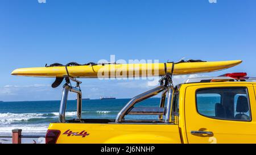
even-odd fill
[[[67,106],[67,100],[68,100],[68,91],[70,87],[66,85],[63,89],[61,101],[60,101],[60,111],[59,111],[59,122],[65,123],[65,110]]]

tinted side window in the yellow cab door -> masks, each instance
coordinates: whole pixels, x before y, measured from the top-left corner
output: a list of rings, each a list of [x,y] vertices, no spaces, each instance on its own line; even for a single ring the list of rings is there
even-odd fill
[[[209,88],[196,92],[199,114],[216,119],[250,121],[250,104],[245,87]]]

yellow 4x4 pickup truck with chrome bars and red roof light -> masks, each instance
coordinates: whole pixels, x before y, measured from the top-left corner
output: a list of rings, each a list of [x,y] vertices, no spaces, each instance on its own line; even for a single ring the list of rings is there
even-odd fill
[[[76,79],[71,79],[77,82]],[[170,76],[130,100],[113,120],[82,119],[81,91],[64,86],[59,122],[49,124],[46,143],[256,143],[256,78],[246,73],[190,78],[172,86]],[[65,120],[68,92],[77,93],[77,118]],[[162,95],[159,107],[137,107]],[[156,115],[129,120],[127,115]]]

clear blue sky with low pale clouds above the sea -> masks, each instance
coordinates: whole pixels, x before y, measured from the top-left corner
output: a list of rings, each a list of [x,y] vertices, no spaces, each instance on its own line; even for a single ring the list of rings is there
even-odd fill
[[[54,79],[10,76],[16,68],[97,62],[110,55],[126,61],[241,59],[235,68],[203,75],[256,76],[255,6],[254,0],[2,0],[0,100],[60,99],[61,88],[49,86]],[[130,98],[152,87],[146,80],[82,82],[85,98]]]

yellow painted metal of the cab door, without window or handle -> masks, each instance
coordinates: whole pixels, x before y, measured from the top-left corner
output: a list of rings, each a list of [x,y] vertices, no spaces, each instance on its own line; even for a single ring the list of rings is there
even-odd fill
[[[200,115],[196,108],[196,90],[211,87],[246,87],[250,99],[251,121],[221,120]],[[187,86],[185,92],[185,125],[188,143],[256,143],[256,103],[251,83],[194,84]],[[191,131],[210,131],[213,135],[192,135]]]

